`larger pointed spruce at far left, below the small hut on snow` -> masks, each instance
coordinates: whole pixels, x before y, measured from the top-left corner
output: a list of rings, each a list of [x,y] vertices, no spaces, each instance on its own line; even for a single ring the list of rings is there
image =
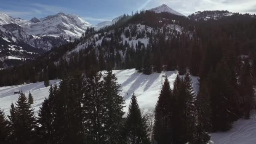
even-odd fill
[[[36,119],[33,109],[28,102],[27,97],[23,92],[20,93],[16,102],[16,120],[14,129],[17,142],[30,144],[35,141],[35,129],[37,128]]]

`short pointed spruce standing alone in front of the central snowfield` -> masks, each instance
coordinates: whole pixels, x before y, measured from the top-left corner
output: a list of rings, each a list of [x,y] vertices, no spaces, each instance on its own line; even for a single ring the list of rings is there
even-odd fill
[[[128,115],[125,119],[125,142],[127,144],[150,144],[147,123],[141,115],[135,94],[131,97]]]

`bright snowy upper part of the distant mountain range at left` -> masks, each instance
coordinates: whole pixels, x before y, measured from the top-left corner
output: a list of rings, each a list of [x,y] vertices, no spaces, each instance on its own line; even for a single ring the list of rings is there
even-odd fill
[[[76,14],[66,15],[65,13],[58,13],[42,19],[34,17],[29,21],[20,18],[13,19],[7,14],[0,13],[0,24],[17,24],[29,35],[63,37],[66,40],[69,40],[69,37],[78,38],[87,27],[94,27]]]

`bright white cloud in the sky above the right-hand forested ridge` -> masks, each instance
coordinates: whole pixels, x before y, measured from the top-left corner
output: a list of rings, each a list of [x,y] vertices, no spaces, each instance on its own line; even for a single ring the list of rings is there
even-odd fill
[[[239,13],[255,13],[256,0],[152,0],[149,8],[166,4],[175,11],[189,15],[196,11],[227,10]]]

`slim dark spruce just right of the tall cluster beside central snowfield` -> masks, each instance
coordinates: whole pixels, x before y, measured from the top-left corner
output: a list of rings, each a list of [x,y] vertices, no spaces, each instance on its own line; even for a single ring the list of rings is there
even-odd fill
[[[195,144],[208,144],[211,131],[211,107],[210,107],[210,93],[207,82],[204,80],[200,85],[199,93],[195,101],[196,107],[196,131]]]

